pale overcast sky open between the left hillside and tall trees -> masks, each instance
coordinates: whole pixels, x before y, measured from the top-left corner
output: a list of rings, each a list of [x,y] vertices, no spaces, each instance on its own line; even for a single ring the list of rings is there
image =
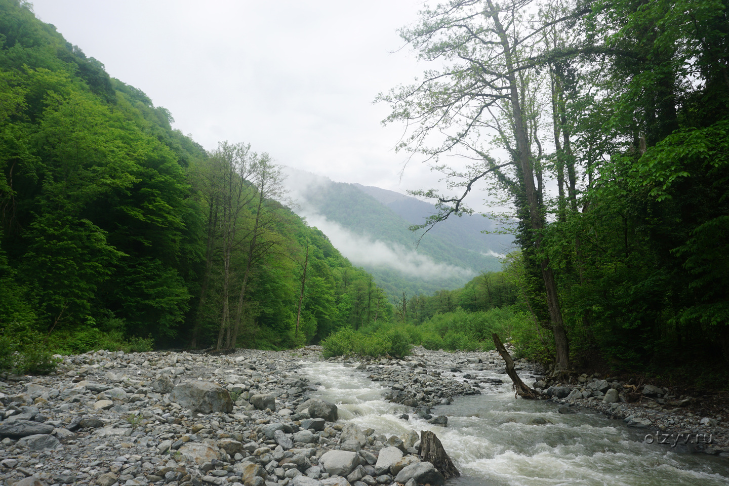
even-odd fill
[[[393,150],[375,96],[426,68],[397,28],[422,1],[35,0],[36,16],[171,111],[206,149],[247,142],[335,181],[405,192],[437,177]]]

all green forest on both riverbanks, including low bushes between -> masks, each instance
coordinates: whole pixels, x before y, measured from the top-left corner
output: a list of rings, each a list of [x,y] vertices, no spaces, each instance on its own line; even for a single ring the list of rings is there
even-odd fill
[[[402,355],[491,347],[499,332],[555,375],[725,387],[727,7],[453,0],[402,28],[432,69],[378,101],[408,127],[399,149],[449,191],[413,193],[437,203],[421,230],[472,213],[484,189],[520,248],[500,272],[433,291],[378,286],[289,209],[269,154],[204,150],[26,2],[0,0],[0,368],[321,340],[327,354]],[[348,186],[317,193],[325,216],[391,218],[346,213],[375,207]],[[427,238],[446,262],[481,262]]]

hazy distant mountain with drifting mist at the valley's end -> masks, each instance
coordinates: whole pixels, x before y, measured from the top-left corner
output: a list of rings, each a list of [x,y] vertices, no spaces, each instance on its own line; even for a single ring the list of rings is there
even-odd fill
[[[477,273],[501,267],[489,253],[494,251],[491,247],[477,245],[483,235],[475,230],[458,230],[455,235],[433,230],[418,245],[419,235],[408,228],[423,211],[434,211],[432,205],[386,189],[364,190],[361,184],[334,182],[291,168],[286,171],[299,205],[297,213],[319,227],[351,262],[372,273],[391,297],[402,291],[414,295],[456,289]],[[480,250],[459,244],[459,238]]]

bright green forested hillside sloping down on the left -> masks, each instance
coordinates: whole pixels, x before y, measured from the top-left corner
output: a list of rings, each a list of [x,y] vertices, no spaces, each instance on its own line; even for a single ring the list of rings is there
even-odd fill
[[[290,211],[268,154],[206,152],[172,122],[0,0],[0,367],[41,350],[290,347],[391,315]]]

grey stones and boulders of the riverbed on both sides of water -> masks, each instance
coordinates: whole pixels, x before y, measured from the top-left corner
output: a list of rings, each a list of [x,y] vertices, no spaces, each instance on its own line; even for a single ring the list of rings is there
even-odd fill
[[[0,383],[0,484],[441,484],[437,469],[417,457],[417,434],[375,434],[342,424],[334,404],[308,398],[316,380],[307,380],[302,368],[320,356],[316,348],[228,356],[100,351],[64,358],[55,375],[6,377]],[[441,426],[448,418],[431,415],[430,407],[499,385],[482,375],[504,367],[495,352],[423,348],[402,359],[333,361],[389,385],[384,398]],[[539,368],[517,366],[530,385],[543,380]],[[503,381],[510,385],[505,375]],[[644,389],[639,402],[627,403],[636,396],[633,388],[609,381],[606,388],[603,381],[582,377],[566,390],[555,383],[546,391],[561,412],[594,409],[647,434],[711,434],[713,444],[684,447],[729,456],[721,415],[695,416],[690,400],[682,403],[663,389]],[[606,400],[609,395],[616,401]]]

